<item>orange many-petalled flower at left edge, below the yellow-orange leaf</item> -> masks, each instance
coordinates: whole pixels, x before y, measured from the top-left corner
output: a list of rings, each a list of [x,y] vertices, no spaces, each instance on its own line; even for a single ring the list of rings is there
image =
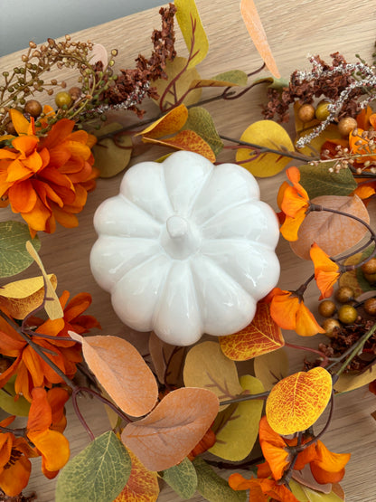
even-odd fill
[[[66,305],[69,298],[68,291],[61,295],[61,307],[64,317],[42,321],[32,317],[29,322],[37,326],[35,333],[41,336],[31,336],[33,343],[40,346],[54,365],[62,373],[72,378],[76,373],[76,365],[82,360],[81,346],[73,340],[61,340],[67,337],[68,331],[87,333],[91,327],[100,327],[95,317],[82,316],[91,303],[88,293],[80,293]],[[48,365],[33,347],[30,346],[17,331],[11,327],[3,317],[0,317],[0,353],[7,357],[14,357],[14,363],[0,375],[0,388],[16,374],[14,390],[21,393],[28,401],[32,401],[33,387],[48,387],[61,384],[61,376]],[[46,335],[49,337],[43,338]]]

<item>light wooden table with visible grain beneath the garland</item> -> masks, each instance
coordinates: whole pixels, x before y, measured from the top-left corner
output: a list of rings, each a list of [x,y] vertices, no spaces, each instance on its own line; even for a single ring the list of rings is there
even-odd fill
[[[210,51],[206,59],[199,65],[202,77],[210,78],[222,71],[239,69],[256,70],[260,58],[253,43],[249,39],[240,16],[239,0],[196,0],[202,23],[207,32]],[[375,40],[375,9],[372,2],[350,2],[350,0],[285,0],[272,2],[258,0],[258,12],[268,34],[268,41],[274,53],[279,71],[288,77],[296,69],[308,69],[308,54],[320,54],[324,60],[330,59],[332,52],[342,52],[349,62],[355,61],[354,54],[359,52],[371,62],[373,43]],[[374,5],[373,5],[374,7]],[[77,11],[80,13],[80,3]],[[72,39],[104,44],[108,52],[117,48],[118,67],[132,68],[137,54],[146,56],[151,52],[150,35],[154,28],[160,27],[157,9],[134,14],[123,19],[102,24],[80,33],[73,33]],[[183,37],[176,30],[176,48],[180,55],[186,54]],[[23,52],[16,52],[0,59],[0,68],[5,71],[19,62]],[[268,73],[264,72],[267,76]],[[53,77],[53,74],[51,75]],[[65,77],[65,75],[64,75]],[[66,75],[68,85],[74,80]],[[206,94],[205,94],[206,95]],[[207,106],[220,133],[240,137],[242,131],[261,117],[259,104],[265,100],[265,89],[260,87],[250,91],[241,99],[223,102],[217,101]],[[126,120],[134,120],[132,114]],[[160,155],[158,149],[151,149],[143,156],[133,159],[155,159]],[[221,154],[221,161],[233,160],[233,154]],[[58,292],[68,289],[71,294],[89,291],[93,304],[89,313],[99,318],[103,334],[127,336],[136,346],[146,346],[146,334],[136,334],[120,323],[110,306],[108,294],[97,286],[89,270],[89,251],[96,240],[92,218],[99,203],[109,196],[118,193],[118,185],[122,175],[109,180],[99,180],[96,191],[89,194],[89,200],[80,213],[80,226],[66,230],[61,227],[52,235],[41,235],[41,257],[45,268],[58,277]],[[261,197],[273,208],[277,209],[277,187],[284,175],[260,180]],[[14,214],[2,210],[1,219],[15,218]],[[296,258],[290,251],[287,242],[278,244],[277,253],[281,262],[280,286],[283,289],[294,289],[301,281],[312,273],[311,264]],[[28,273],[37,274],[36,269]],[[316,289],[309,291],[311,302],[316,304]],[[288,340],[294,341],[291,334]],[[317,346],[317,339],[300,339],[302,344]],[[290,353],[291,371],[299,371],[302,367],[302,354]],[[82,412],[88,417],[89,425],[95,433],[108,429],[108,419],[101,405],[89,399],[82,399]],[[352,459],[346,469],[343,488],[347,500],[351,502],[374,502],[376,500],[375,447],[376,423],[371,412],[376,409],[376,398],[366,387],[353,393],[343,394],[335,400],[334,420],[330,430],[324,437],[325,444],[337,452],[352,452]],[[68,406],[67,436],[71,441],[72,455],[77,454],[89,444],[89,438]],[[54,499],[55,481],[42,476],[40,459],[34,462],[33,476],[25,493],[35,490],[40,502],[52,502]],[[221,472],[227,477],[228,472]],[[162,488],[160,500],[172,502],[179,500],[172,490]],[[193,500],[202,500],[198,494]],[[221,502],[221,501],[218,501]],[[225,501],[223,501],[225,502]]]

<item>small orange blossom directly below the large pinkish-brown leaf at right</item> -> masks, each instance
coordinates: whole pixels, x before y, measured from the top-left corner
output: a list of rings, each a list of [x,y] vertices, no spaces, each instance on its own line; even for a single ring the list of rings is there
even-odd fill
[[[319,299],[329,298],[333,294],[334,284],[341,275],[340,269],[315,242],[309,254],[315,265],[315,281],[321,291]]]

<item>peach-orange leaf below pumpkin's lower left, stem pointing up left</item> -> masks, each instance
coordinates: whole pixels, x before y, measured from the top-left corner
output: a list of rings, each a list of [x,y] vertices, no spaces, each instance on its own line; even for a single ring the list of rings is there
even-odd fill
[[[139,417],[154,408],[158,396],[155,376],[134,346],[118,336],[69,334],[82,344],[90,370],[123,412]]]

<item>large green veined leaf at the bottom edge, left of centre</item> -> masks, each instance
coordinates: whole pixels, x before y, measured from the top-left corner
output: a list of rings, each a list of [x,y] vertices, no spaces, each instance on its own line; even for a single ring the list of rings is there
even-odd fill
[[[113,431],[93,440],[61,469],[56,502],[112,502],[123,490],[132,462]]]

